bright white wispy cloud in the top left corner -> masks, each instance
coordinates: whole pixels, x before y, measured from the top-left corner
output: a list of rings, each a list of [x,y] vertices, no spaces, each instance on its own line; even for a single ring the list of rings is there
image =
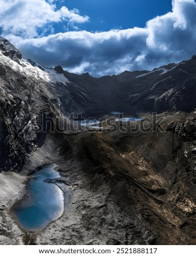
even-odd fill
[[[0,28],[2,34],[20,35],[22,38],[39,36],[38,29],[52,30],[52,23],[83,23],[88,16],[79,15],[77,9],[56,9],[54,1],[0,0]]]

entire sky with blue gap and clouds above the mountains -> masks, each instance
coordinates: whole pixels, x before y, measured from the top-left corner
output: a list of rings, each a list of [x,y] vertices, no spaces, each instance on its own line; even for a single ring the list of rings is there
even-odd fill
[[[194,0],[0,0],[0,34],[24,58],[100,77],[196,54]]]

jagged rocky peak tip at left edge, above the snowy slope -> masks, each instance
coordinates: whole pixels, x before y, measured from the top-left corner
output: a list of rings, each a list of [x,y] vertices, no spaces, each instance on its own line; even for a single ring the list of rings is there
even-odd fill
[[[22,59],[22,54],[7,39],[0,36],[0,51],[13,60]]]

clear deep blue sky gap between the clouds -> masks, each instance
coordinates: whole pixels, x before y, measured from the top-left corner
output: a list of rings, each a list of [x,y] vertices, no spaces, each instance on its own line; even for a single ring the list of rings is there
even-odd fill
[[[65,0],[56,4],[58,8],[77,8],[81,15],[89,16],[89,22],[78,26],[87,31],[145,27],[146,21],[172,11],[170,0]],[[61,23],[54,27],[56,32],[63,31]],[[74,29],[69,26],[69,30]]]

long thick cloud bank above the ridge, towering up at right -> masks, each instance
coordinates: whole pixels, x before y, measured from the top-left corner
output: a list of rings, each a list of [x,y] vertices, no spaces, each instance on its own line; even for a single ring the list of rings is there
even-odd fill
[[[68,71],[93,76],[150,70],[196,54],[196,3],[173,0],[172,4],[170,13],[148,21],[145,28],[7,37],[25,57],[44,66],[62,65]]]

